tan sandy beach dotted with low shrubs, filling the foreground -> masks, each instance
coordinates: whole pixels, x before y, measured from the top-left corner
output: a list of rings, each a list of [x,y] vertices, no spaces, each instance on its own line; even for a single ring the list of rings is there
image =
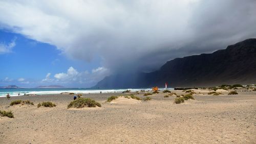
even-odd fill
[[[173,90],[185,94],[182,90]],[[209,95],[195,90],[195,100],[175,104],[176,95],[150,95],[151,101],[119,98],[123,93],[82,94],[102,107],[67,109],[69,94],[0,98],[0,110],[14,118],[0,117],[0,143],[256,143],[256,91]],[[200,92],[200,93],[199,93]],[[145,98],[143,93],[137,97]],[[10,106],[13,100],[35,105]],[[51,101],[56,107],[39,107]]]

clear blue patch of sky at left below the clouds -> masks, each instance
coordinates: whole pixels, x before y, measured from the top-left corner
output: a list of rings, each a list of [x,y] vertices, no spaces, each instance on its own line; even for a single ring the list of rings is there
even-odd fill
[[[8,53],[0,53],[0,86],[18,85],[23,87],[35,87],[39,85],[60,84],[66,87],[90,87],[89,84],[41,82],[48,73],[54,74],[66,72],[69,67],[77,71],[86,71],[100,66],[100,58],[91,62],[71,59],[62,54],[56,46],[38,42],[26,38],[23,35],[0,30],[0,43],[8,45],[14,42]]]

